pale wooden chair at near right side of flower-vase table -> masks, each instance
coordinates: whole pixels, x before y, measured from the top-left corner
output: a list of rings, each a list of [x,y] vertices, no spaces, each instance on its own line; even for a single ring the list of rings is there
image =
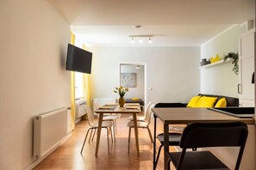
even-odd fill
[[[138,128],[143,128],[143,129],[147,129],[148,131],[148,135],[150,137],[150,140],[151,142],[153,143],[153,137],[152,137],[152,134],[151,134],[151,131],[148,127],[148,125],[150,124],[151,122],[151,114],[152,114],[152,111],[151,111],[151,108],[153,107],[154,105],[150,105],[147,109],[147,112],[146,112],[146,120],[144,122],[141,122],[141,121],[137,121],[137,126]],[[130,150],[130,138],[131,138],[131,129],[134,128],[134,121],[133,120],[130,120],[127,124],[127,126],[129,127],[129,132],[128,132],[128,153],[129,153],[129,150]]]

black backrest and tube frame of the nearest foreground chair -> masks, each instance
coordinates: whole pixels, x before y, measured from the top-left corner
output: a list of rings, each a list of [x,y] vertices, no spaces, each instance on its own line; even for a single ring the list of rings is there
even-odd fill
[[[183,153],[185,149],[192,148],[240,147],[235,165],[235,169],[239,169],[241,157],[247,143],[247,136],[247,124],[243,122],[197,122],[188,124],[184,128],[179,146],[183,149]]]

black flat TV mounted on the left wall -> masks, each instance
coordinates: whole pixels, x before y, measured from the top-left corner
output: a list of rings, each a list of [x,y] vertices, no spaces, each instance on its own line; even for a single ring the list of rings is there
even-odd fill
[[[66,70],[91,74],[92,53],[68,44]]]

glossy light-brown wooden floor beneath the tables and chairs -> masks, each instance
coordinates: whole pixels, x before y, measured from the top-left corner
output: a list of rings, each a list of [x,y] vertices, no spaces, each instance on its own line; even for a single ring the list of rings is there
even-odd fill
[[[153,118],[152,118],[153,120]],[[59,149],[56,149],[44,161],[34,168],[38,169],[115,169],[115,170],[130,170],[130,169],[153,169],[153,144],[148,136],[147,129],[139,129],[140,140],[140,157],[137,157],[134,131],[131,135],[131,148],[128,154],[128,119],[117,119],[117,135],[116,142],[109,142],[110,155],[107,149],[106,131],[103,129],[102,137],[99,146],[98,156],[95,157],[96,139],[84,145],[83,155],[80,155],[80,149],[84,142],[85,133],[89,128],[86,120],[76,124],[75,131],[72,132],[66,143],[62,144]],[[150,129],[153,134],[153,121],[150,124]],[[163,132],[163,124],[158,121],[157,133]],[[157,143],[157,149],[159,143]],[[172,151],[175,149],[170,147]],[[159,157],[157,169],[164,169],[163,152]],[[175,169],[174,167],[171,167]]]

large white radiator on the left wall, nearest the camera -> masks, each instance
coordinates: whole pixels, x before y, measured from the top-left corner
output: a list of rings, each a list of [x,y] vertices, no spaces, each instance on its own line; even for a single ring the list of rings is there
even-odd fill
[[[34,156],[49,155],[67,137],[67,108],[34,117]]]

